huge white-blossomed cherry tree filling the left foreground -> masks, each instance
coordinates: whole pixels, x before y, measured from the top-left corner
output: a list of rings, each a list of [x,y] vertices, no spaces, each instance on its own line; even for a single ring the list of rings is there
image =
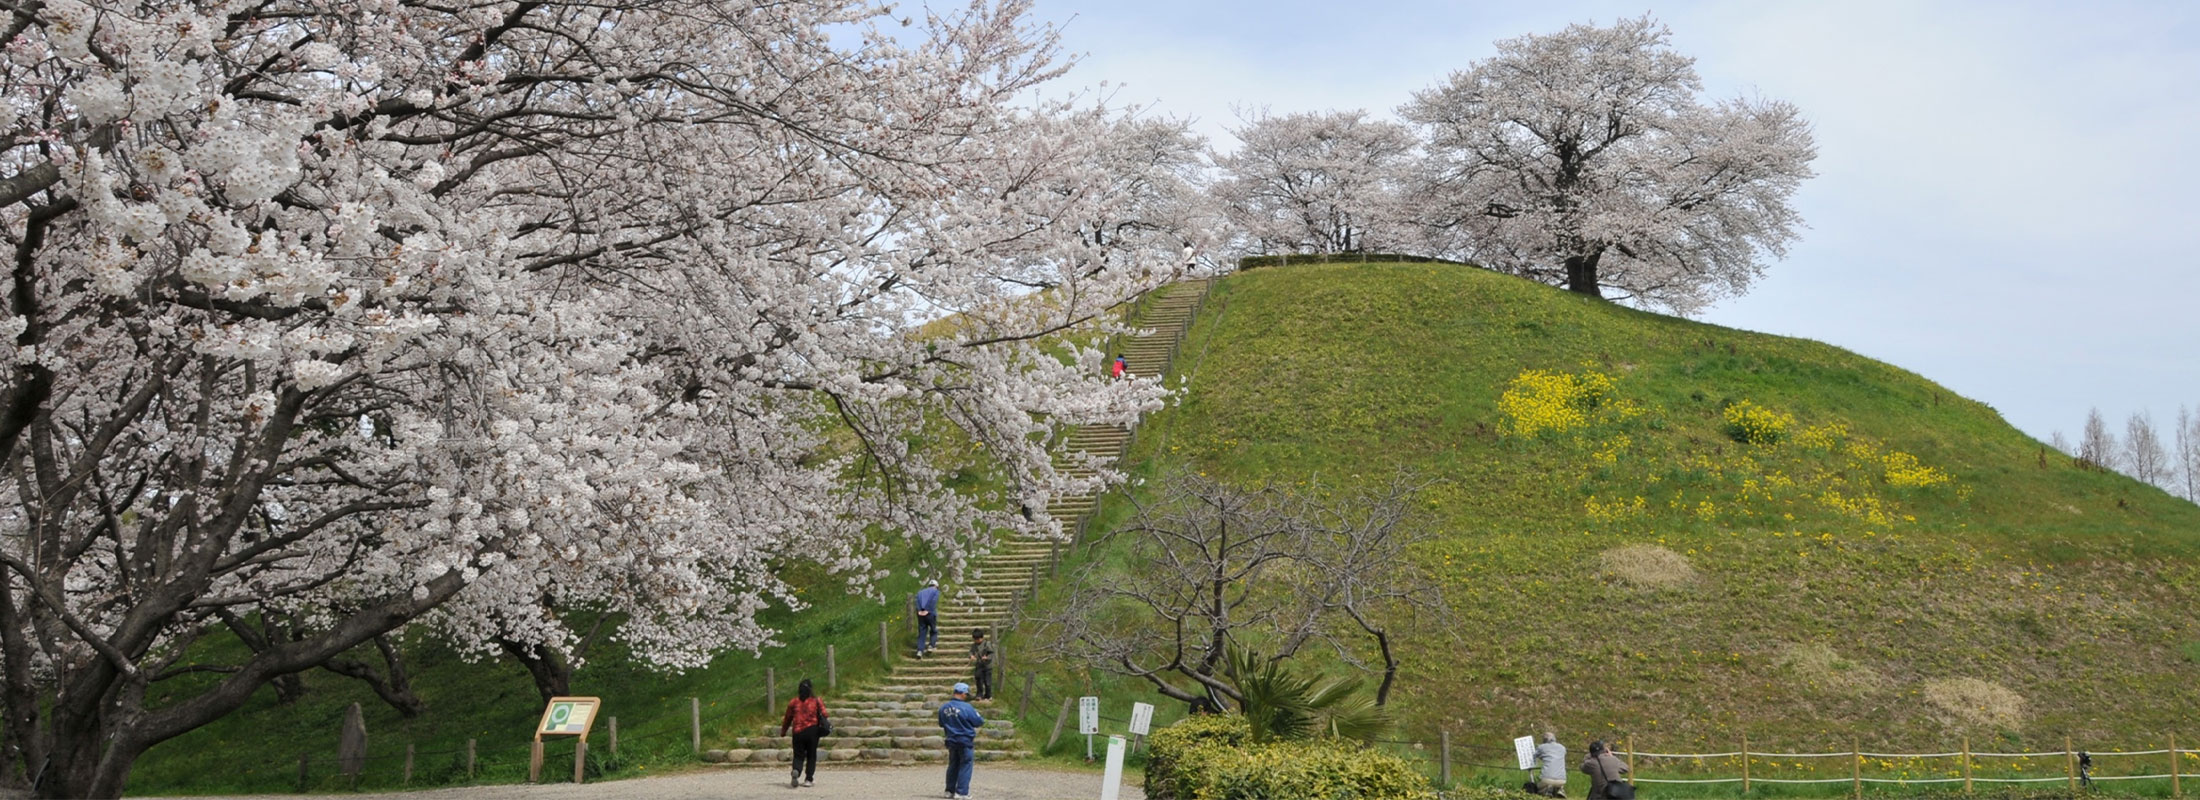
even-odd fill
[[[587,609],[684,668],[772,644],[774,565],[1058,530],[1014,510],[1120,477],[1049,429],[1162,400],[1058,334],[1184,233],[1087,235],[1144,211],[1030,101],[1025,7],[9,4],[4,774],[119,796],[405,624],[570,651]],[[942,429],[1005,488],[950,490]]]

